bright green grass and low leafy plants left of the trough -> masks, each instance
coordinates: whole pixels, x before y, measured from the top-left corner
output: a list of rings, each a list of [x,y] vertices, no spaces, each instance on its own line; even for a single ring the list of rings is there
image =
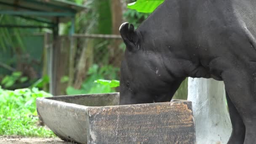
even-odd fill
[[[37,88],[9,91],[0,87],[0,135],[54,137],[51,130],[37,125],[35,100],[46,96],[51,95]]]

